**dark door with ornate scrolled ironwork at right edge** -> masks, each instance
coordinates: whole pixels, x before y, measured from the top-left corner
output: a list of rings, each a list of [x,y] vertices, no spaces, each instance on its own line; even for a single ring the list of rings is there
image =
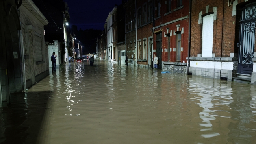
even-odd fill
[[[239,67],[241,74],[251,74],[253,70],[256,25],[256,3],[242,8],[240,20]]]

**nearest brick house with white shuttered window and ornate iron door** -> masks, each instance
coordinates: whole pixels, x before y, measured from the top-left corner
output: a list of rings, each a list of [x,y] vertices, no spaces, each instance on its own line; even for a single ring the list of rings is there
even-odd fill
[[[255,0],[192,0],[189,72],[255,83]]]

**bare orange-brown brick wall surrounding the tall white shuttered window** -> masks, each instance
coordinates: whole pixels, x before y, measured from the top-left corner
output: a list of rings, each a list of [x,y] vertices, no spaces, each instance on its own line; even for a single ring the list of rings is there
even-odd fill
[[[232,16],[233,6],[228,6],[228,0],[192,0],[191,12],[191,57],[202,54],[202,24],[198,24],[198,17],[202,11],[202,17],[213,12],[213,7],[217,7],[216,20],[213,27],[213,50],[215,57],[230,57],[230,53],[239,53],[237,43],[239,43],[240,29],[240,7],[252,2],[249,0],[239,0],[237,3],[236,15]],[[208,13],[206,10],[208,8]]]

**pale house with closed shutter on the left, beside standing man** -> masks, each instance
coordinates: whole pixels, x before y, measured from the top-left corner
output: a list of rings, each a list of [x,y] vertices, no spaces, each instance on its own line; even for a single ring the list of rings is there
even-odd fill
[[[49,75],[48,47],[45,44],[45,16],[32,0],[23,0],[20,6],[22,42],[24,50],[24,81],[26,88]]]

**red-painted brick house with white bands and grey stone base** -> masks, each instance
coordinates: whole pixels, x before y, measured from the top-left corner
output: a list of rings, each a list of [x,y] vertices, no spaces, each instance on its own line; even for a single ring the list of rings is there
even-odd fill
[[[189,0],[155,1],[154,49],[163,71],[186,73]]]

